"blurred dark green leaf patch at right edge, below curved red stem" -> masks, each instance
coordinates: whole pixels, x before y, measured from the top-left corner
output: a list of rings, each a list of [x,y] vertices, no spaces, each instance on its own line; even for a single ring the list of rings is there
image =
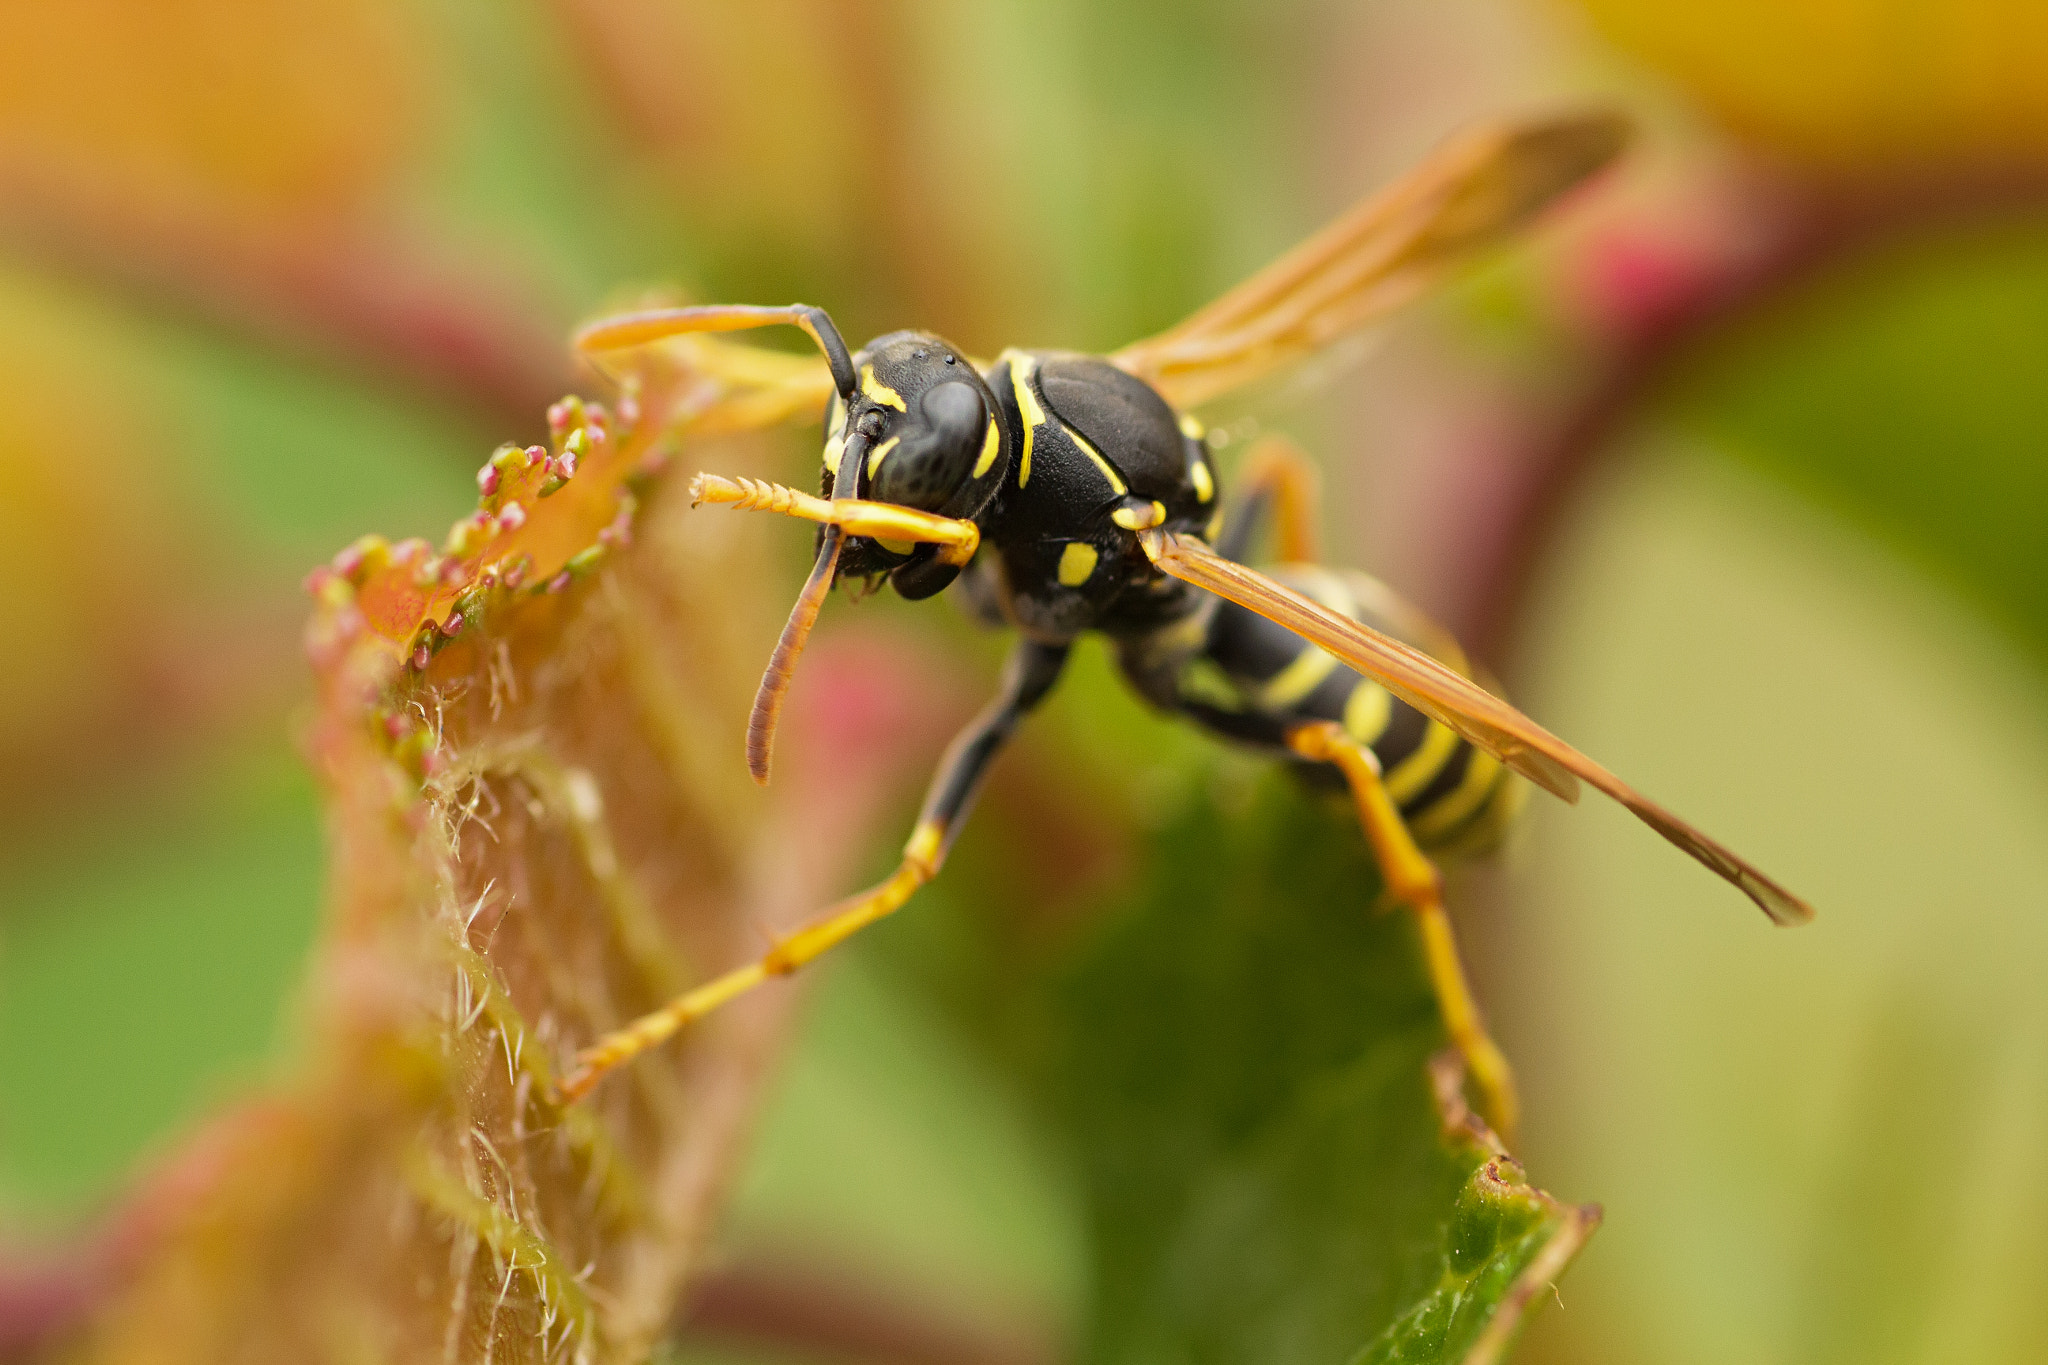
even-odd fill
[[[1847,514],[2048,659],[2048,227],[1864,252],[1708,348],[1671,415]]]

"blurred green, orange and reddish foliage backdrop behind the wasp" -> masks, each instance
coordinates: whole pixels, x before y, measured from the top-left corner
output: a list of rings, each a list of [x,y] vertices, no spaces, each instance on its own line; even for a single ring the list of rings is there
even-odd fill
[[[1647,133],[1583,213],[1225,428],[1311,444],[1333,553],[1821,909],[1769,933],[1591,802],[1458,884],[1530,1171],[1608,1207],[1520,1359],[2048,1357],[2032,6],[37,0],[0,74],[6,1244],[289,1058],[299,575],[459,516],[578,317],[674,282],[1106,348],[1462,123],[1604,100]],[[879,618],[963,632],[827,622]],[[1083,663],[1016,763],[1143,808],[1071,755],[1200,745]],[[819,974],[735,1257],[1079,1312],[1065,1177],[920,966],[1004,804]]]

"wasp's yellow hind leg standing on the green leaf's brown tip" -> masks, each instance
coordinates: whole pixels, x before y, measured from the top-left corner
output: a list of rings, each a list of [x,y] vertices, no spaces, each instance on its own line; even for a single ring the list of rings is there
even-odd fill
[[[1378,759],[1372,749],[1346,735],[1343,726],[1327,720],[1288,733],[1288,747],[1305,759],[1335,763],[1350,784],[1358,804],[1358,823],[1364,825],[1366,839],[1372,843],[1380,874],[1386,878],[1386,892],[1415,915],[1430,984],[1436,988],[1436,1005],[1444,1013],[1444,1029],[1464,1056],[1473,1085],[1479,1087],[1479,1103],[1487,1121],[1511,1146],[1516,1124],[1522,1117],[1513,1070],[1487,1033],[1479,1003],[1473,1001],[1473,988],[1464,980],[1458,941],[1450,931],[1450,915],[1444,913],[1444,878],[1415,847],[1415,837],[1401,821],[1401,810],[1386,794],[1386,784],[1380,782]]]

